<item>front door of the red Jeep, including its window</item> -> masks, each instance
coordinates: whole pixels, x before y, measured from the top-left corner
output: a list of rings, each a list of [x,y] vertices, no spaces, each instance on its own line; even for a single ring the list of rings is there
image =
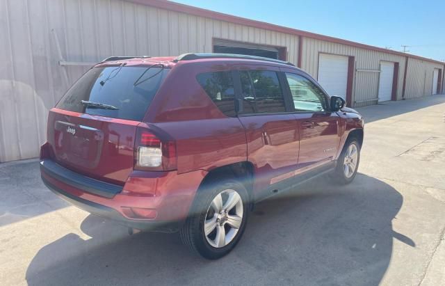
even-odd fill
[[[285,72],[300,131],[296,174],[331,163],[340,143],[340,118],[329,110],[328,97],[305,74]]]

